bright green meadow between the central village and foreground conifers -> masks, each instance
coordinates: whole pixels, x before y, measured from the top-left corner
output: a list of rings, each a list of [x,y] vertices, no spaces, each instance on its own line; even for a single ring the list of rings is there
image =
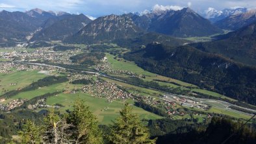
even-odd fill
[[[71,109],[73,102],[77,98],[84,99],[86,101],[86,105],[90,106],[90,110],[97,116],[99,123],[101,124],[109,124],[111,121],[118,117],[121,108],[123,107],[123,102],[107,102],[107,99],[92,97],[87,93],[76,93],[76,94],[64,94],[61,93],[57,97],[49,97],[47,99],[47,104],[62,104],[65,107],[61,108],[60,111],[64,112],[64,110]],[[146,112],[142,108],[138,108],[133,106],[134,114],[140,115],[141,119],[160,119],[159,115],[151,114],[150,112]]]

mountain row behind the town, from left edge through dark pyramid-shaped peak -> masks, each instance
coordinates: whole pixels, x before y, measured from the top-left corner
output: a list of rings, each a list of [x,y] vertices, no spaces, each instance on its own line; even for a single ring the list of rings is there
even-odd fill
[[[27,12],[2,11],[0,19],[5,21],[1,23],[2,46],[15,45],[17,42],[64,39],[67,39],[66,42],[71,40],[78,43],[107,42],[116,38],[141,36],[146,32],[175,37],[222,33],[221,29],[190,8],[159,10],[144,15],[110,15],[94,21],[83,14],[45,12],[35,8]],[[6,19],[8,25],[3,24]]]

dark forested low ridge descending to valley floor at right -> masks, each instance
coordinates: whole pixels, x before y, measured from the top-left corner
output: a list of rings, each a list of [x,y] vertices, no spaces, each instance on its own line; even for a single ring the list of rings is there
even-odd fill
[[[216,91],[238,101],[256,104],[256,69],[205,53],[190,46],[170,47],[157,43],[125,53],[124,58],[166,77]]]

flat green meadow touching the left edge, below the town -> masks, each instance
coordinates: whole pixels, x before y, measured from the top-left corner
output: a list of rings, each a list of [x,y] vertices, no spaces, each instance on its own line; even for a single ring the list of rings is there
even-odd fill
[[[33,81],[37,81],[44,77],[47,77],[47,75],[38,73],[38,71],[16,71],[14,73],[0,73],[0,95],[5,93],[5,91],[24,88],[25,86],[31,84]]]

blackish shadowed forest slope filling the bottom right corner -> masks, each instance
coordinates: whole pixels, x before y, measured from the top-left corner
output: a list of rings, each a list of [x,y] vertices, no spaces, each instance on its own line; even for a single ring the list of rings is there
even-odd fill
[[[157,119],[149,121],[151,136],[157,137],[157,143],[255,143],[255,127],[242,126],[242,122],[234,122],[225,117],[213,117],[211,123],[198,125],[184,120]],[[241,127],[242,126],[242,127]]]

